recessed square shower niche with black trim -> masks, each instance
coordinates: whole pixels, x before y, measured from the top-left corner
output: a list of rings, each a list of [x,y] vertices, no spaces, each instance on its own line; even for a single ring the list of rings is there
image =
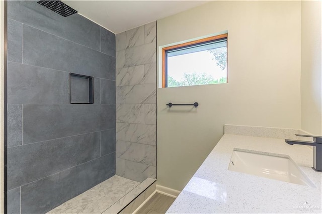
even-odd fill
[[[93,104],[93,77],[69,73],[70,104]]]

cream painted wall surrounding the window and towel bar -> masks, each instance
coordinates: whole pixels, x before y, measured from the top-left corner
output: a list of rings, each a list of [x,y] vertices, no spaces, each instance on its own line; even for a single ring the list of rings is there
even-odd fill
[[[157,90],[158,185],[182,190],[224,124],[301,127],[301,2],[207,3],[158,20],[157,46],[226,30],[228,84]]]

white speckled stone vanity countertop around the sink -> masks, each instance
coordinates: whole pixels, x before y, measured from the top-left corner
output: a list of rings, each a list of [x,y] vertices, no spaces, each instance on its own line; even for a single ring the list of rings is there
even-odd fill
[[[289,155],[316,188],[230,171],[234,148]],[[167,213],[322,213],[322,173],[311,166],[310,146],[225,134]]]

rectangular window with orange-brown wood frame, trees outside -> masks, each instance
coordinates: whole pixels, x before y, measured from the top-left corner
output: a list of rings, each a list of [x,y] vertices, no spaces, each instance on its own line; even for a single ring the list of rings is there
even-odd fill
[[[228,34],[162,49],[162,87],[227,83]]]

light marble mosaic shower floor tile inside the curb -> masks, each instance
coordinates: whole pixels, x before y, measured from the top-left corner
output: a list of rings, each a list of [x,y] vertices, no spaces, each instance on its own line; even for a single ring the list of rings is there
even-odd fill
[[[48,213],[103,213],[139,184],[114,175]]]

